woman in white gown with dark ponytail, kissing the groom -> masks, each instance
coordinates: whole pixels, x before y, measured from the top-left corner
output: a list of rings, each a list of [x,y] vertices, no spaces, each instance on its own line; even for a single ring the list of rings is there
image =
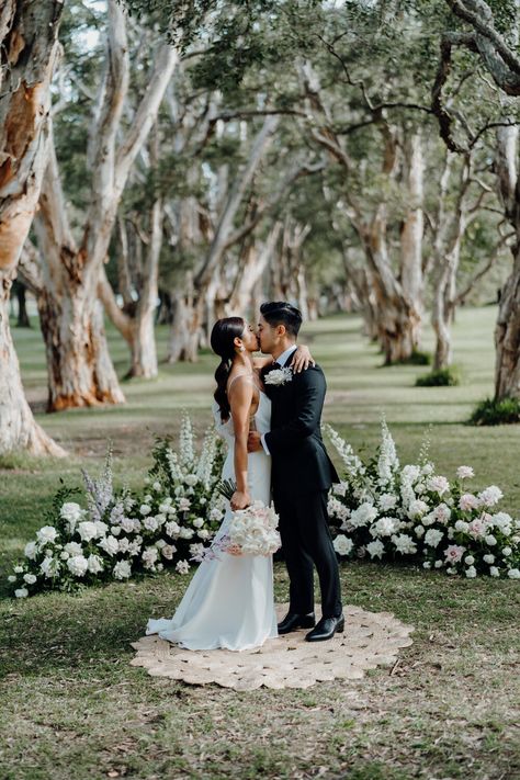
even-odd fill
[[[218,540],[225,535],[234,510],[253,500],[271,502],[271,459],[263,450],[248,455],[247,440],[251,429],[259,433],[270,430],[271,402],[260,372],[272,358],[253,357],[260,349],[258,337],[241,317],[219,319],[211,343],[221,358],[213,414],[228,445],[222,478],[236,483],[215,536]],[[310,362],[307,348],[298,347],[293,370],[302,371]],[[272,556],[218,552],[217,557],[203,559],[173,618],[149,620],[146,633],[193,651],[244,651],[278,636]]]

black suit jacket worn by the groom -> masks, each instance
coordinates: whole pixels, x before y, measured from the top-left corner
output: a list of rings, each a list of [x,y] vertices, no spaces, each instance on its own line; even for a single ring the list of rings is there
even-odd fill
[[[293,374],[283,385],[265,385],[272,403],[265,443],[272,456],[274,495],[328,490],[332,482],[339,482],[321,439],[326,389],[319,365]]]

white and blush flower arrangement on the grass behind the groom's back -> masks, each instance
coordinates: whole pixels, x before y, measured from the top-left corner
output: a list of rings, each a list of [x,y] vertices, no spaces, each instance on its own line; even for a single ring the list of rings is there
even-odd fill
[[[438,474],[428,442],[418,464],[402,467],[384,420],[381,428],[377,456],[363,463],[326,426],[344,472],[328,506],[338,555],[420,562],[468,578],[519,579],[520,520],[497,508],[501,489],[471,490],[471,466],[460,466],[452,481]]]

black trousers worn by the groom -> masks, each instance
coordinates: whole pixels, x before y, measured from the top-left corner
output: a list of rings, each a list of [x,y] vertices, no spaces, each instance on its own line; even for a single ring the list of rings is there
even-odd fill
[[[274,490],[280,535],[290,579],[290,610],[314,611],[314,566],[318,573],[324,618],[341,614],[338,559],[327,515],[328,491],[286,496]]]

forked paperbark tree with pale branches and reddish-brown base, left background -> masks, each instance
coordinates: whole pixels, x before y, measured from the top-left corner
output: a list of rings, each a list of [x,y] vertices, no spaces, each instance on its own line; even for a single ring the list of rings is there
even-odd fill
[[[109,0],[105,72],[89,136],[91,196],[81,238],[75,240],[68,224],[54,151],[36,221],[45,280],[38,305],[52,411],[124,400],[108,350],[98,285],[131,168],[154,125],[177,63],[174,48],[159,46],[132,125],[117,143],[129,63],[124,13],[115,0]]]

